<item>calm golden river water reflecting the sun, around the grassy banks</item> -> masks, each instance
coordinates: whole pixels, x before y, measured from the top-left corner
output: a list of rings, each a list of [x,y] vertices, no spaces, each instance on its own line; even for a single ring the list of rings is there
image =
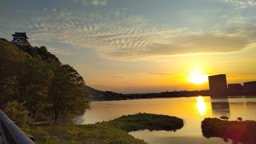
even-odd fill
[[[91,110],[79,117],[82,123],[95,123],[118,118],[124,114],[166,114],[185,120],[176,132],[140,130],[130,132],[149,143],[226,143],[222,138],[204,138],[201,122],[204,118],[226,115],[230,120],[256,120],[256,98],[152,98],[126,101],[92,102]],[[232,143],[231,141],[228,143]]]

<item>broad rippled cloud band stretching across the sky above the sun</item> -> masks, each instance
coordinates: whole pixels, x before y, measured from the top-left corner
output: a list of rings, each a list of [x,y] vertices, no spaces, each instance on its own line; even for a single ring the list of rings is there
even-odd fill
[[[235,22],[240,22],[237,19]],[[118,12],[111,14],[72,13],[47,10],[24,20],[30,41],[58,41],[91,48],[111,59],[134,59],[174,54],[230,53],[255,42],[256,25],[229,25],[208,32],[188,28],[156,28],[142,16]],[[17,22],[14,22],[17,23]],[[14,26],[15,27],[15,26]],[[20,26],[17,26],[20,27]],[[56,53],[66,54],[55,50]]]

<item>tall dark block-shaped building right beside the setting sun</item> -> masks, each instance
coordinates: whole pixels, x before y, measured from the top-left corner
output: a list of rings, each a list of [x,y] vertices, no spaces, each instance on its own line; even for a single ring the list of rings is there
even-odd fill
[[[210,94],[223,95],[227,91],[226,74],[209,76]]]

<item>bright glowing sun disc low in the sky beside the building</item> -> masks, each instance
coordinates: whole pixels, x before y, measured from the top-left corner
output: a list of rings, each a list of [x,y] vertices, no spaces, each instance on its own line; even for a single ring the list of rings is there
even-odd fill
[[[206,74],[202,74],[201,69],[196,69],[196,70],[190,72],[189,81],[194,83],[194,84],[199,85],[199,84],[202,84],[204,82],[207,82],[208,78],[207,78]]]

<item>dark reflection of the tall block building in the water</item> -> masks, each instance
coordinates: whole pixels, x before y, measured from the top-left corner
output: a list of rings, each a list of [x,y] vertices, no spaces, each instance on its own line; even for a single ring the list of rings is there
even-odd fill
[[[211,98],[213,117],[230,117],[230,102],[228,98]]]

